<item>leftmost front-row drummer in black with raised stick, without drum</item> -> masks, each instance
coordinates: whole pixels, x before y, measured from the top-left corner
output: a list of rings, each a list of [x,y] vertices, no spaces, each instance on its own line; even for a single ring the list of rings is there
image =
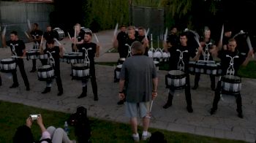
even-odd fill
[[[29,88],[29,80],[26,76],[26,71],[24,68],[23,58],[26,57],[26,45],[23,40],[18,39],[17,31],[12,31],[10,34],[10,40],[6,41],[5,35],[2,35],[2,45],[3,47],[9,46],[12,51],[12,55],[16,56],[15,62],[20,69],[21,77],[23,78],[24,84],[26,86],[26,90],[30,90]],[[17,70],[12,71],[12,80],[13,84],[10,88],[17,88],[19,86],[18,79],[17,79]]]

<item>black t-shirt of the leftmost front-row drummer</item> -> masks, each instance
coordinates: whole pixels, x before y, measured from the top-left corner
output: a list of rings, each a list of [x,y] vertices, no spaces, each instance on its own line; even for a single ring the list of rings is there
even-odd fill
[[[17,56],[22,56],[23,55],[23,51],[25,50],[25,43],[18,39],[17,41],[7,41],[7,46],[9,46],[12,50],[12,48],[14,47],[15,53],[17,53]],[[14,51],[12,50],[12,53]]]

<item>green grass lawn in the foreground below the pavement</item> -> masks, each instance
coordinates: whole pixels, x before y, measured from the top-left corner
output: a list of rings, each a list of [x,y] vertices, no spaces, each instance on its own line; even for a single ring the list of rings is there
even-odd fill
[[[67,120],[69,114],[64,112],[55,112],[46,109],[39,109],[36,107],[29,107],[23,104],[14,104],[7,101],[0,101],[0,142],[10,143],[12,142],[12,136],[15,134],[16,128],[19,125],[26,123],[26,118],[30,114],[42,114],[45,127],[53,125],[55,127],[64,126],[64,121]],[[131,129],[129,124],[116,123],[106,120],[98,120],[90,117],[92,128],[92,142],[133,142],[131,136]],[[70,128],[70,139],[75,139],[74,128]],[[34,139],[39,139],[40,129],[37,123],[33,123],[31,128]],[[229,140],[229,139],[217,139],[207,136],[197,136],[193,134],[184,134],[173,131],[159,130],[156,128],[149,128],[149,131],[161,131],[165,135],[167,142],[223,142],[223,143],[236,143],[242,141]],[[139,132],[142,132],[142,128],[139,128]]]

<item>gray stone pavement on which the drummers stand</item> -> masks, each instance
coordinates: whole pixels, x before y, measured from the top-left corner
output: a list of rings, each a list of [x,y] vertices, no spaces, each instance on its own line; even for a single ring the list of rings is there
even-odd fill
[[[111,38],[113,31],[101,31],[97,33],[101,45],[100,57],[96,62],[117,61],[117,53],[106,53],[112,47]],[[95,38],[94,38],[95,39]],[[61,40],[67,52],[71,50],[68,39]],[[27,43],[30,49],[32,43]],[[0,57],[9,58],[10,48],[0,48]],[[0,86],[0,100],[26,104],[43,109],[73,113],[78,105],[88,109],[90,117],[103,120],[112,120],[121,123],[129,123],[124,116],[124,105],[117,105],[118,83],[113,82],[113,66],[96,65],[97,85],[99,101],[94,101],[91,83],[89,82],[88,96],[78,99],[82,92],[80,81],[71,80],[71,66],[61,63],[61,79],[64,87],[63,96],[57,96],[56,82],[53,83],[50,93],[42,94],[46,83],[37,80],[37,72],[30,73],[32,62],[25,61],[26,73],[29,77],[31,90],[26,91],[23,80],[18,71],[18,88],[10,89],[12,77],[10,74],[1,73],[3,85]],[[37,61],[37,66],[41,63]],[[158,97],[152,107],[152,120],[150,127],[161,128],[168,131],[180,131],[203,136],[213,136],[225,139],[238,139],[246,142],[255,142],[256,139],[256,80],[242,78],[242,103],[244,118],[237,117],[236,102],[233,100],[219,101],[219,109],[216,115],[210,115],[214,92],[210,88],[210,78],[201,74],[199,88],[191,90],[193,113],[188,113],[184,91],[177,92],[173,98],[173,106],[163,109],[167,99],[168,90],[165,88],[165,74],[167,71],[158,71],[159,87]],[[190,76],[191,86],[194,85],[194,76]],[[216,80],[218,78],[216,77]],[[233,98],[231,98],[233,99]]]

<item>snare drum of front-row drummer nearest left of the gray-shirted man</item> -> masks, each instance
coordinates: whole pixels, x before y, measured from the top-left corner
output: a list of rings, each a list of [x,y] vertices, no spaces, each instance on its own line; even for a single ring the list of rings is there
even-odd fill
[[[89,66],[83,63],[76,63],[72,66],[72,79],[83,80],[89,77]]]

